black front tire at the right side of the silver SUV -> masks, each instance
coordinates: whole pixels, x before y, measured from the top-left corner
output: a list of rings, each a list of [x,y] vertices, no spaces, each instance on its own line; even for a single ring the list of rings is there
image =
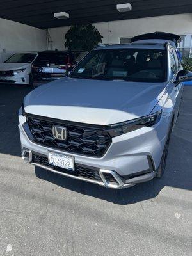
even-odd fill
[[[157,172],[156,177],[157,178],[161,178],[164,174],[164,170],[165,170],[165,167],[166,167],[166,159],[167,159],[167,156],[168,156],[168,149],[169,149],[171,133],[172,133],[172,127],[170,128],[168,138],[167,138],[166,144],[164,146],[163,155],[161,157],[161,163],[159,164],[159,167],[156,170],[156,172]]]

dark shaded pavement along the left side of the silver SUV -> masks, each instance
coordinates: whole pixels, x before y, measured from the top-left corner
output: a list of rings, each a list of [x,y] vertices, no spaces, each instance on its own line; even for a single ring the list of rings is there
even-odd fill
[[[20,156],[18,112],[28,85],[0,85],[0,153]]]

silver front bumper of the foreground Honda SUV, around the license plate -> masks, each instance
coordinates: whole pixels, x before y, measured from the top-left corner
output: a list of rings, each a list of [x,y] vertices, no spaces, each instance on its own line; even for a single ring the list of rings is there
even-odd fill
[[[169,125],[166,115],[164,115],[161,118],[161,122],[158,122],[154,127],[143,127],[136,131],[128,132],[127,134],[113,138],[112,143],[104,156],[90,157],[72,154],[65,152],[64,150],[45,147],[34,143],[29,139],[26,131],[24,131],[23,124],[25,122],[26,118],[22,116],[22,111],[20,109],[19,129],[22,149],[43,156],[47,156],[48,151],[68,154],[69,156],[72,155],[75,158],[75,164],[83,164],[89,168],[105,170],[112,175],[115,175],[114,173],[116,173],[117,177],[119,177],[122,182],[116,182],[118,184],[115,184],[115,188],[127,188],[134,184],[150,180],[156,175],[157,167],[161,161]],[[54,170],[52,166],[44,166],[44,164],[35,163],[32,160],[30,163],[74,179],[86,180],[101,186],[108,186],[104,180],[87,180],[82,177],[74,177],[73,175],[70,175],[70,173],[63,174],[60,170]],[[111,184],[108,187],[111,188]]]

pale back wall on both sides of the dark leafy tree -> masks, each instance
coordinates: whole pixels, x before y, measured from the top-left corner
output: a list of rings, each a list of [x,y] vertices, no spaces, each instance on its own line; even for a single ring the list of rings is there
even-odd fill
[[[129,38],[142,33],[164,31],[179,35],[192,34],[192,13],[166,15],[142,19],[118,20],[93,24],[104,37],[104,43],[119,43],[120,38]],[[51,49],[64,49],[65,33],[69,27],[50,28]]]

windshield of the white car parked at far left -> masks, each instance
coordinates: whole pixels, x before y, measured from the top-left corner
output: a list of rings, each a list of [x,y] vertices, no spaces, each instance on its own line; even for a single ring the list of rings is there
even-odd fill
[[[6,63],[30,63],[33,62],[33,60],[36,57],[36,53],[16,53],[13,54],[8,60],[6,60]]]

